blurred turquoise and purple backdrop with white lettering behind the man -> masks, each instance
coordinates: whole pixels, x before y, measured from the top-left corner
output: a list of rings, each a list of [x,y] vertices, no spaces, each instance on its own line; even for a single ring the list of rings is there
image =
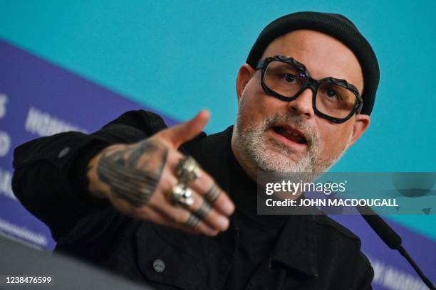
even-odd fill
[[[51,250],[45,225],[11,192],[13,149],[58,131],[92,132],[128,109],[175,124],[207,108],[206,131],[237,112],[235,81],[267,23],[295,11],[347,16],[373,45],[380,87],[371,126],[333,168],[435,172],[435,1],[0,0],[0,232]],[[436,280],[436,209],[385,218]],[[425,289],[358,216],[375,289]]]

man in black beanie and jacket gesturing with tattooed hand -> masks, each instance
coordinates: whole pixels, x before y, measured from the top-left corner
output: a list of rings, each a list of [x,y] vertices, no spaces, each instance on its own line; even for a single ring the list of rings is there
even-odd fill
[[[347,18],[289,14],[239,70],[234,127],[206,136],[207,111],[170,129],[133,111],[90,135],[36,139],[15,151],[14,193],[56,251],[157,289],[370,289],[360,240],[341,225],[256,215],[256,173],[327,171],[368,128],[378,78]]]

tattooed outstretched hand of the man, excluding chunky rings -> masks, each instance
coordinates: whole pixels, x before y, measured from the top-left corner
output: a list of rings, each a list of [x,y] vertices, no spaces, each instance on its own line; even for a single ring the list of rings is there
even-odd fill
[[[177,208],[167,198],[178,182],[175,168],[183,158],[177,148],[197,136],[208,120],[209,112],[202,111],[135,144],[107,147],[89,163],[90,194],[108,198],[135,218],[186,232],[217,235],[227,230],[234,205],[206,172],[190,183],[190,208]]]

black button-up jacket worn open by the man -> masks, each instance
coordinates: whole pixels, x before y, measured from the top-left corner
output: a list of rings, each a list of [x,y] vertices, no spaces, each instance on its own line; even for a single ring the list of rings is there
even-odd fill
[[[50,227],[56,251],[108,268],[157,289],[223,289],[235,269],[239,238],[235,221],[217,237],[134,220],[106,200],[85,192],[84,168],[103,147],[133,143],[166,127],[156,114],[132,111],[86,135],[43,137],[14,151],[12,187],[21,203]],[[229,141],[232,127],[202,133],[180,151],[194,156],[231,197]],[[268,259],[249,275],[245,289],[371,289],[373,269],[360,240],[326,215],[290,215],[271,244]]]

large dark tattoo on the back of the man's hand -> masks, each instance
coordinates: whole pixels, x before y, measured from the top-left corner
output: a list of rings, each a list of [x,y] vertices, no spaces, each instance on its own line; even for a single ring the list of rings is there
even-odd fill
[[[139,208],[155,193],[167,156],[165,146],[145,140],[137,146],[103,154],[98,162],[98,177],[115,197]]]

